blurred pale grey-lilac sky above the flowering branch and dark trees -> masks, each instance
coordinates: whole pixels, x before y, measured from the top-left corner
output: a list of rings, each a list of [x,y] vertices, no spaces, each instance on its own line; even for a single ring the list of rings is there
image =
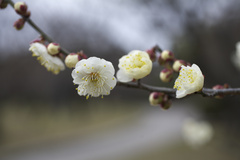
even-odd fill
[[[168,1],[163,0],[145,3],[137,0],[25,0],[33,21],[63,47],[71,50],[69,45],[84,40],[98,48],[97,36],[101,36],[106,41],[106,46],[102,42],[101,48],[112,44],[126,52],[146,50],[155,44],[171,48],[173,35],[181,34],[187,11],[194,10],[199,20],[211,25],[221,17],[230,1],[179,0],[176,3],[181,10],[174,11]],[[7,52],[7,56],[18,54],[19,48],[27,51],[29,42],[38,36],[28,24],[22,31],[16,31],[12,26],[18,18],[10,6],[0,10],[0,52]],[[81,46],[78,49],[81,50]]]

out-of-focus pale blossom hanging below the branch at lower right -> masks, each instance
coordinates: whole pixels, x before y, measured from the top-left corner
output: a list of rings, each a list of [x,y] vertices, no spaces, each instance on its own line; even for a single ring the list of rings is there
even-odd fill
[[[213,127],[206,121],[197,122],[188,118],[183,123],[182,136],[189,146],[198,148],[212,139]]]

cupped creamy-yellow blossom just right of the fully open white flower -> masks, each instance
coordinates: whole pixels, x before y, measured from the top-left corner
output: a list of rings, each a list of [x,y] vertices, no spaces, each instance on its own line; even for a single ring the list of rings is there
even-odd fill
[[[117,79],[120,82],[130,82],[141,79],[152,71],[152,61],[147,52],[133,50],[119,59]]]

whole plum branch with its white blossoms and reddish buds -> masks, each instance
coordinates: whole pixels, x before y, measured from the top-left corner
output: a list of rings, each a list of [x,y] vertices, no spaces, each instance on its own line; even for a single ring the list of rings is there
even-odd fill
[[[0,9],[6,8],[8,4],[21,16],[21,18],[14,23],[14,27],[17,30],[22,29],[25,22],[28,22],[30,26],[41,34],[42,39],[31,43],[29,50],[32,51],[32,55],[37,57],[37,60],[48,71],[58,74],[65,69],[65,65],[73,69],[72,77],[74,79],[73,82],[78,84],[78,94],[86,96],[87,99],[90,96],[98,97],[110,94],[110,91],[117,83],[111,62],[97,57],[86,59],[87,57],[83,52],[69,54],[64,48],[60,48],[59,44],[51,43],[51,38],[29,18],[31,14],[25,2],[17,2],[14,4],[11,0],[0,0]],[[45,41],[50,44],[45,45]],[[240,68],[240,42],[237,43],[236,48],[237,51],[233,61],[236,66]],[[116,74],[119,81],[118,84],[123,85],[123,83],[134,82],[135,80],[146,77],[151,73],[152,63],[154,61],[157,61],[164,67],[159,74],[159,78],[163,82],[170,82],[173,79],[173,74],[180,72],[174,84],[174,88],[177,89],[176,98],[182,98],[188,94],[198,92],[203,88],[204,76],[196,64],[190,67],[189,63],[176,59],[173,52],[162,50],[158,46],[146,52],[133,50],[128,53],[128,55],[120,58],[118,64],[119,70]],[[168,109],[171,105],[171,98],[175,98],[175,89],[156,88],[151,85],[142,84],[140,81],[137,81],[137,83],[124,84],[124,86],[148,91],[158,91],[150,94],[149,101],[151,105],[160,105],[164,109]],[[228,87],[228,85],[216,85],[212,90],[206,89],[199,93],[207,96],[215,96],[215,98],[222,98],[229,93],[239,93],[239,91],[235,89],[225,90]]]

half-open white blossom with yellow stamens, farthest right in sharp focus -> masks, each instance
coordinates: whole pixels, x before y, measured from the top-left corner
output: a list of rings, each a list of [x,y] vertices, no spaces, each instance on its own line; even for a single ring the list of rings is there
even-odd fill
[[[174,88],[177,89],[176,98],[182,98],[188,94],[200,91],[203,88],[203,84],[204,76],[196,64],[193,64],[191,67],[182,65],[174,84]]]

